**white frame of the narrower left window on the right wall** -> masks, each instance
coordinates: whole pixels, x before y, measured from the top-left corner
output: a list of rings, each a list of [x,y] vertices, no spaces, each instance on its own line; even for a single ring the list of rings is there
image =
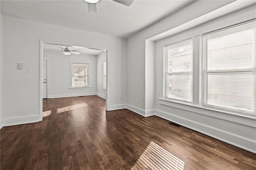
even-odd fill
[[[168,71],[168,68],[166,67],[167,66],[167,59],[168,57],[166,56],[166,48],[167,47],[170,47],[172,45],[179,45],[179,44],[182,44],[182,43],[188,43],[191,41],[191,55],[192,55],[192,59],[191,59],[191,71],[172,71],[172,72],[169,72]],[[163,47],[163,99],[165,100],[168,100],[168,101],[174,101],[174,102],[178,102],[178,103],[186,103],[188,105],[191,105],[193,103],[193,61],[194,61],[194,57],[193,57],[193,54],[194,54],[194,49],[193,49],[193,38],[188,38],[188,39],[185,39],[185,40],[181,40],[181,41],[178,41],[178,42],[174,42],[174,43],[171,43],[171,44],[168,44],[168,45],[164,45]],[[191,74],[191,101],[188,101],[188,100],[185,100],[185,99],[178,99],[175,98],[175,97],[168,97],[167,96],[167,88],[168,88],[168,75],[170,74],[186,74],[186,73],[190,73]]]

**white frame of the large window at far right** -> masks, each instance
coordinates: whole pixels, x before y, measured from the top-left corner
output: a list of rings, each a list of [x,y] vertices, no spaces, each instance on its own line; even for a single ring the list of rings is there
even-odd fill
[[[248,24],[248,23],[251,23],[251,22],[255,22],[256,19],[253,19],[253,20],[248,20],[248,21],[245,21],[245,22],[242,22],[242,23],[238,23],[238,24],[234,24],[232,26],[228,26],[228,27],[225,27],[225,28],[221,28],[221,29],[218,29],[218,30],[214,30],[212,32],[208,32],[208,33],[204,33],[204,34],[201,34],[200,35],[200,79],[201,79],[201,87],[200,87],[200,105],[201,107],[203,108],[208,108],[208,109],[213,109],[213,110],[216,110],[216,111],[222,111],[222,112],[228,112],[228,113],[235,113],[235,114],[239,114],[239,115],[248,115],[248,116],[256,116],[255,114],[255,106],[253,106],[253,103],[255,103],[255,99],[254,97],[252,96],[252,113],[248,113],[246,111],[240,111],[239,109],[237,109],[237,111],[234,111],[234,109],[228,109],[229,107],[214,107],[214,105],[210,105],[210,104],[207,104],[205,103],[205,94],[207,93],[207,91],[205,91],[205,83],[206,83],[206,76],[205,74],[207,73],[219,73],[219,74],[227,74],[227,73],[230,73],[230,74],[233,74],[233,73],[245,73],[245,72],[252,72],[252,87],[255,87],[256,85],[256,81],[254,80],[256,78],[256,65],[254,65],[254,68],[246,68],[246,69],[221,69],[221,70],[204,70],[204,56],[203,56],[203,37],[204,36],[207,36],[209,34],[214,34],[214,33],[218,33],[218,32],[222,32],[222,31],[225,31],[225,30],[229,30],[229,29],[232,29],[232,28],[236,28],[238,26],[242,26],[244,24]],[[225,34],[227,35],[227,34]],[[256,41],[254,42],[256,44]],[[254,44],[254,45],[255,45]],[[206,44],[207,46],[207,44]],[[207,47],[206,47],[207,48]],[[206,51],[207,53],[208,51]],[[254,55],[256,55],[256,53],[254,53]],[[207,65],[207,56],[206,56],[206,65]],[[254,57],[254,60],[256,60],[256,57]],[[254,61],[255,62],[255,61]],[[256,93],[256,88],[253,88],[252,89],[252,93]]]

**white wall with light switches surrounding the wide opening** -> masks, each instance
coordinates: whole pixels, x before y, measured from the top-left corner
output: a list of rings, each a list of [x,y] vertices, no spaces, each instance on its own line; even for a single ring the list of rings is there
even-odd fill
[[[126,97],[122,63],[126,61],[126,40],[103,34],[3,16],[2,123],[16,125],[39,119],[39,40],[72,43],[108,49],[110,109],[120,108]],[[23,69],[18,70],[18,62]],[[32,68],[32,73],[27,69]]]

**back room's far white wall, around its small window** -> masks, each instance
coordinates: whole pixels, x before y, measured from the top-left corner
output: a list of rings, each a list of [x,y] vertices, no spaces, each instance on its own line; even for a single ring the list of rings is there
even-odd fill
[[[48,98],[96,95],[97,92],[97,57],[95,55],[64,55],[57,51],[44,50],[48,59]],[[70,89],[70,61],[89,61],[92,89]]]

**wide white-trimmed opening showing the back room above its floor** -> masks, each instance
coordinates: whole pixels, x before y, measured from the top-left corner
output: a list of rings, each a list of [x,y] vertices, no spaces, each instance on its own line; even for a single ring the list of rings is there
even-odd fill
[[[108,111],[108,49],[40,40],[39,121],[43,99],[98,95]]]

